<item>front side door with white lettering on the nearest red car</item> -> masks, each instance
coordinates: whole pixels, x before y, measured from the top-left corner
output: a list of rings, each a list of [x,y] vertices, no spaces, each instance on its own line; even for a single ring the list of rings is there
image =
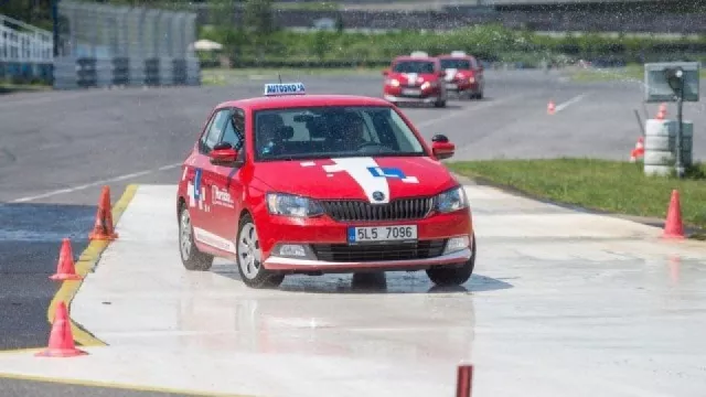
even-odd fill
[[[245,159],[245,111],[233,108],[223,133],[218,148],[231,147]],[[229,165],[210,165],[211,175],[211,214],[213,216],[213,232],[224,239],[224,246],[228,251],[235,253],[233,247],[225,244],[234,244],[237,237],[238,215],[243,208],[243,179],[242,168]]]

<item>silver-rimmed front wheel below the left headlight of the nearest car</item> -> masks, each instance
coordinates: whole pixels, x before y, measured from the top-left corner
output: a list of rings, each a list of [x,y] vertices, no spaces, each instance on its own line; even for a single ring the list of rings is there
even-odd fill
[[[285,280],[285,275],[269,271],[263,266],[260,240],[249,214],[240,218],[236,249],[238,271],[246,286],[272,288],[278,287]]]

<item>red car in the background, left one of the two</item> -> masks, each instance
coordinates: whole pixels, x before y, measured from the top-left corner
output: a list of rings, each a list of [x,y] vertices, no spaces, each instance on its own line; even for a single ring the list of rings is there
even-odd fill
[[[383,97],[393,103],[424,103],[446,107],[446,75],[439,60],[424,52],[398,56],[383,71]]]

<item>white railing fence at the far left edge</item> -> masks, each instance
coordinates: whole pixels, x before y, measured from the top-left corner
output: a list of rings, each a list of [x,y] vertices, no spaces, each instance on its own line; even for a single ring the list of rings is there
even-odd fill
[[[0,78],[50,81],[52,33],[0,14]]]

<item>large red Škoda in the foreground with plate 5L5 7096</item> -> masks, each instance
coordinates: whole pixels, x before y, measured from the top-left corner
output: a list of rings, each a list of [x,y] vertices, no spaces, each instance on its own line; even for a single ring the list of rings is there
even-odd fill
[[[463,186],[382,98],[306,95],[301,83],[220,104],[182,168],[179,243],[189,270],[235,260],[249,287],[288,273],[426,270],[437,285],[473,271]]]

